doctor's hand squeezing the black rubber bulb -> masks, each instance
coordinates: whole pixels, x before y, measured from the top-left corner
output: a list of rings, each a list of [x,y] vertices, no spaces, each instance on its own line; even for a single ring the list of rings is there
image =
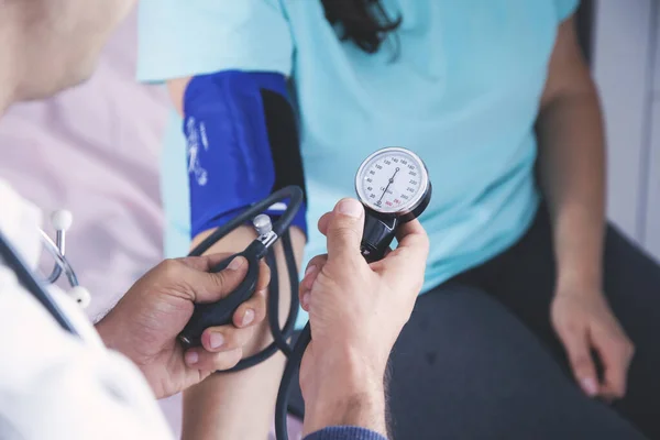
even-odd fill
[[[209,273],[230,254],[166,260],[139,279],[96,327],[108,348],[131,359],[157,398],[193,386],[217,370],[234,366],[253,327],[266,315],[271,273],[262,263],[254,296],[242,304],[233,324],[209,328],[202,346],[184,350],[177,336],[193,316],[195,302],[215,302],[244,278],[248,262],[238,257],[228,268]]]

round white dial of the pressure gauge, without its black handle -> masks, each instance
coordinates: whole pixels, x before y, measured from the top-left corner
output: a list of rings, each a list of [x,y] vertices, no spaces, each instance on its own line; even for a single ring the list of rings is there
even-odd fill
[[[424,199],[428,184],[424,162],[400,147],[375,152],[362,163],[355,177],[358,197],[364,205],[395,216],[414,210]]]

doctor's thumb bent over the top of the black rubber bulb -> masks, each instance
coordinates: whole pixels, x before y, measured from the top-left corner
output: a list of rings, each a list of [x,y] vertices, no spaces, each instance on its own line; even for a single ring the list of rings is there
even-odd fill
[[[220,272],[195,271],[188,285],[195,293],[195,302],[215,302],[231,294],[245,278],[248,261],[243,256],[233,258]]]

